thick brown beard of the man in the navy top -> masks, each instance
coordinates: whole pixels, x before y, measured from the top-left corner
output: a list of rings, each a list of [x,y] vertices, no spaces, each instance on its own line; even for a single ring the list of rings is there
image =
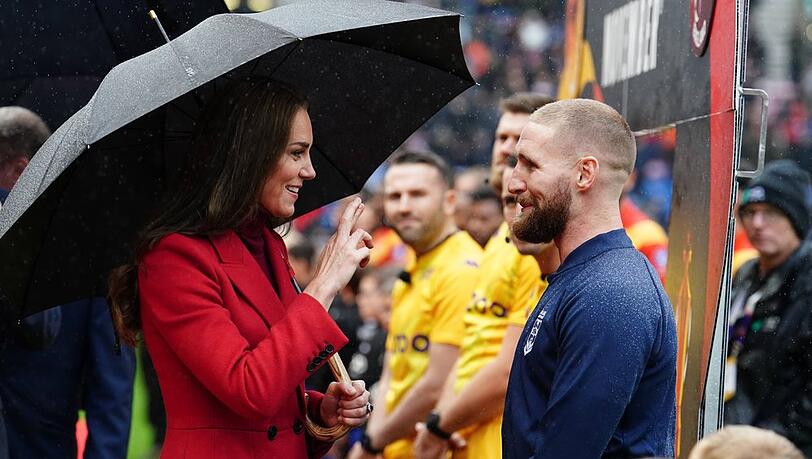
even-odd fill
[[[567,226],[572,196],[567,192],[566,179],[556,182],[543,207],[523,210],[511,222],[517,238],[534,244],[551,242]]]

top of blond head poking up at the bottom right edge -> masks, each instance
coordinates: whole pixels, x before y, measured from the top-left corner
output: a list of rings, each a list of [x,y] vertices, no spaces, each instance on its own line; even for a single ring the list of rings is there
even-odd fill
[[[769,430],[728,426],[696,444],[689,459],[804,459],[791,441]]]

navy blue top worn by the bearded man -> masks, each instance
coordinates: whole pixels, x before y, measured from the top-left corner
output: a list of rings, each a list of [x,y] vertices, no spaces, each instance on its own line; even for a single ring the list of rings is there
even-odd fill
[[[676,325],[654,268],[618,229],[549,282],[516,346],[503,457],[673,457]]]

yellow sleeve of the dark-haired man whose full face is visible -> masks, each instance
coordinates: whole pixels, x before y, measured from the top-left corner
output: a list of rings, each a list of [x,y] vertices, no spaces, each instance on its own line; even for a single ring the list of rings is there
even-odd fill
[[[474,263],[461,261],[443,271],[434,285],[437,301],[429,341],[460,346],[465,336],[465,307],[474,293],[479,269]]]

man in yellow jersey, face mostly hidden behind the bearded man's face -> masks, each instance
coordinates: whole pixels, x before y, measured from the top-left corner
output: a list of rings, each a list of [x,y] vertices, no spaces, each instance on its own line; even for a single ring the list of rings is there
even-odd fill
[[[503,173],[505,221],[518,213],[516,196],[507,190],[512,167]],[[480,277],[465,315],[465,340],[457,363],[453,392],[446,393],[424,426],[418,427],[415,456],[445,457],[445,437],[460,432],[466,447],[454,458],[502,457],[502,409],[516,342],[525,320],[547,287],[546,276],[558,268],[552,243],[516,239],[504,225],[485,247]],[[448,389],[448,388],[447,388]]]

